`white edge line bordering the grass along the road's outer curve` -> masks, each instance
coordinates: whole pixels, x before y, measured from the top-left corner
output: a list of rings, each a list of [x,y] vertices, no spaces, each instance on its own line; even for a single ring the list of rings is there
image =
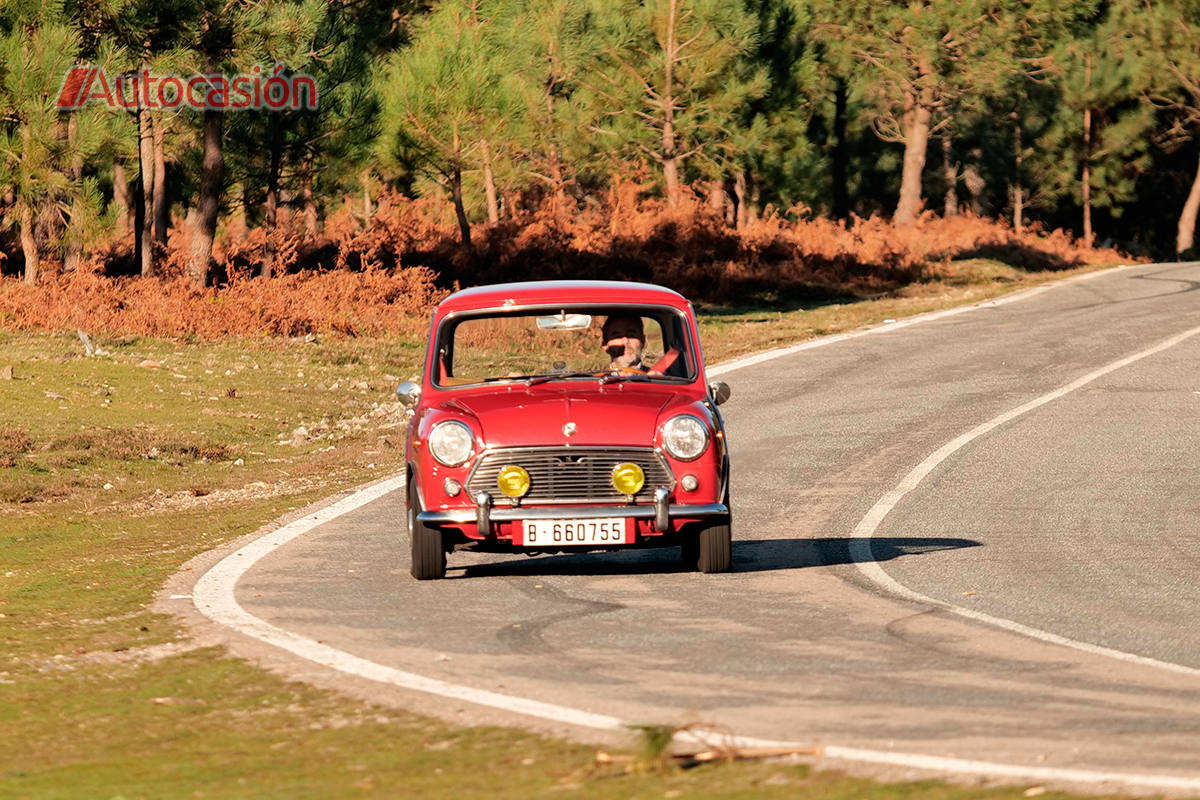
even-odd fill
[[[1128,267],[1120,267],[1120,269],[1128,269]],[[1109,272],[1111,272],[1111,270]],[[1097,275],[1105,275],[1105,273],[1108,272],[1088,273],[1080,276],[1079,278],[1070,278],[1069,281],[1064,281],[1055,285],[1062,285],[1062,283],[1074,282],[1079,279],[1087,279]],[[786,355],[791,355],[792,353],[797,353],[799,350],[810,349],[814,347],[823,347],[824,344],[832,344],[833,342],[836,341],[854,338],[858,336],[866,336],[881,331],[892,331],[896,330],[898,327],[906,327],[908,325],[916,325],[922,321],[940,319],[949,314],[962,313],[965,311],[970,311],[973,308],[991,307],[1006,302],[1022,300],[1040,294],[1042,291],[1045,291],[1048,288],[1050,287],[1049,285],[1038,287],[1036,289],[1031,289],[1030,291],[1024,291],[1018,295],[1010,295],[1009,297],[1004,297],[986,303],[980,303],[978,306],[967,306],[962,308],[953,308],[944,312],[922,314],[886,326],[868,329],[864,331],[857,331],[854,333],[845,333],[838,337],[828,337],[827,339],[816,339],[814,342],[805,342],[804,344],[793,345],[788,348],[779,348],[776,350],[761,353],[754,356],[748,356],[745,359],[739,359],[737,361],[726,365],[721,365],[720,367],[708,371],[708,374],[709,375],[724,374],[727,372],[732,372],[734,369],[740,369],[742,367],[751,366],[754,363],[761,363],[770,359],[779,359]],[[1193,332],[1196,331],[1190,331],[1189,335]],[[1148,353],[1146,353],[1145,355],[1148,355]],[[1118,368],[1118,367],[1112,367],[1112,368]],[[1092,379],[1098,377],[1099,374],[1096,374]],[[1049,402],[1049,399],[1045,402]],[[996,422],[996,425],[1001,423],[1002,422]],[[977,435],[982,435],[982,432],[980,434]],[[949,453],[947,453],[947,456],[948,455]],[[918,470],[920,468],[918,468]],[[930,469],[932,469],[932,467],[930,467]],[[916,473],[917,470],[913,471]],[[928,474],[928,471],[925,474]],[[922,477],[924,475],[922,475]],[[354,492],[353,494],[350,494],[349,497],[346,497],[338,500],[337,503],[334,503],[322,509],[316,513],[296,519],[264,536],[260,536],[259,539],[256,539],[254,541],[247,543],[246,546],[224,557],[221,561],[218,561],[215,566],[212,566],[212,569],[205,572],[200,577],[200,579],[196,582],[196,585],[192,589],[192,602],[196,604],[196,608],[202,614],[211,619],[214,622],[217,622],[218,625],[223,625],[245,636],[252,637],[260,642],[265,642],[274,646],[287,650],[288,652],[300,656],[301,658],[306,658],[314,663],[328,666],[332,669],[337,669],[349,675],[368,678],[371,680],[376,680],[383,684],[389,684],[401,688],[427,692],[430,694],[436,694],[438,697],[446,697],[457,700],[469,702],[487,708],[494,708],[504,711],[523,714],[535,718],[550,720],[552,722],[574,724],[596,730],[618,730],[618,732],[628,730],[628,723],[613,716],[604,714],[593,714],[590,711],[584,711],[581,709],[572,709],[569,706],[556,705],[552,703],[542,703],[540,700],[532,700],[522,697],[514,697],[510,694],[488,692],[486,690],[472,688],[469,686],[461,686],[457,684],[451,684],[434,678],[427,678],[425,675],[419,675],[415,673],[395,669],[392,667],[386,667],[384,664],[379,664],[373,661],[368,661],[366,658],[360,658],[343,650],[331,648],[320,642],[314,642],[313,639],[308,639],[296,633],[292,633],[290,631],[284,631],[280,627],[276,627],[270,622],[266,622],[265,620],[254,616],[245,608],[242,608],[241,604],[238,602],[235,596],[235,588],[238,585],[238,581],[259,560],[262,560],[270,553],[277,551],[278,548],[286,546],[288,542],[292,542],[296,537],[302,536],[304,534],[311,531],[318,525],[330,522],[331,519],[336,519],[337,517],[349,513],[356,509],[361,509],[368,503],[372,503],[384,497],[389,492],[402,489],[403,486],[404,486],[403,475],[397,475],[379,481],[377,483],[365,486],[359,491]],[[916,483],[913,486],[916,486]],[[906,489],[906,492],[907,491],[911,491],[911,488]],[[902,494],[899,497],[902,497]],[[896,498],[898,500],[899,497]],[[876,527],[878,525],[878,522],[882,522],[883,516],[886,516],[886,513],[887,512],[883,512],[883,515],[878,517],[878,521],[876,521],[875,523]],[[868,517],[870,516],[871,515],[868,515]],[[857,542],[852,542],[852,545],[854,543]],[[900,589],[905,593],[908,593],[908,590],[904,589],[904,587],[900,587]],[[910,596],[916,593],[908,593]],[[923,602],[936,603],[937,601],[923,600]],[[1002,624],[1002,622],[1006,622],[1006,620],[992,621],[992,624]],[[1010,625],[1015,625],[1015,622],[1012,622]],[[1154,663],[1157,664],[1158,662]],[[804,742],[782,742],[782,741],[773,741],[766,739],[755,739],[750,736],[733,736],[732,739],[724,739],[722,741],[732,744],[733,746],[737,747],[810,746],[810,744],[804,744]],[[998,764],[991,762],[974,762],[974,760],[966,760],[958,758],[941,758],[936,756],[922,756],[914,753],[896,753],[896,752],[877,751],[877,750],[863,750],[858,747],[840,747],[835,745],[826,746],[823,748],[823,753],[828,758],[836,758],[852,762],[864,762],[872,764],[890,764],[911,769],[930,770],[936,772],[950,772],[959,775],[996,776],[996,777],[1008,777],[1008,778],[1030,780],[1030,781],[1063,781],[1063,782],[1086,783],[1096,786],[1116,784],[1128,788],[1146,788],[1153,790],[1170,789],[1170,790],[1186,790],[1186,792],[1200,793],[1200,778],[1182,777],[1182,776],[1136,775],[1127,772],[1105,772],[1097,770],[1024,766],[1013,764]]]

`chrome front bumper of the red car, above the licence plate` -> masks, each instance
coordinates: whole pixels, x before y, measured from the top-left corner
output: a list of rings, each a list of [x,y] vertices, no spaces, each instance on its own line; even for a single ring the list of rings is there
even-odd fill
[[[724,503],[698,505],[670,504],[667,491],[654,492],[653,505],[606,505],[606,506],[539,506],[517,509],[496,509],[487,492],[475,494],[474,509],[452,509],[449,511],[421,511],[416,518],[427,525],[461,525],[475,523],[479,533],[492,535],[493,522],[515,522],[517,519],[598,519],[601,517],[632,517],[634,519],[653,519],[654,528],[667,531],[674,517],[714,517],[730,512]]]

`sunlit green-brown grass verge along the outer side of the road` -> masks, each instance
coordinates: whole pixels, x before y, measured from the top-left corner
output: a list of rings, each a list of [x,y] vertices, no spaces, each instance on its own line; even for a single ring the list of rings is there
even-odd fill
[[[962,275],[852,305],[708,309],[706,351],[715,362],[1048,277],[994,263]],[[84,357],[74,333],[0,332],[0,368],[13,367],[0,380],[0,798],[1021,796],[782,763],[626,774],[580,745],[454,727],[188,649],[149,610],[154,593],[188,558],[402,468],[384,404],[424,342],[96,344],[107,353]]]

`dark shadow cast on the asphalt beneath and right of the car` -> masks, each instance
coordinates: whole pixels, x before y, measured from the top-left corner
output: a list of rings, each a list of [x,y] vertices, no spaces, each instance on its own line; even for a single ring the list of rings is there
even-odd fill
[[[851,552],[851,542],[870,542],[869,558]],[[827,539],[761,539],[733,542],[733,572],[769,572],[775,570],[802,570],[814,566],[835,566],[858,561],[890,561],[902,555],[926,555],[966,547],[982,547],[973,539],[949,539],[930,536],[881,536],[871,540],[854,540],[848,536]],[[856,558],[858,555],[859,558]],[[451,561],[448,577],[504,577],[504,576],[600,576],[600,575],[670,575],[692,572],[679,559],[679,549],[659,547],[653,549],[619,551],[610,553],[578,553],[565,555],[521,557],[470,564],[454,569]]]

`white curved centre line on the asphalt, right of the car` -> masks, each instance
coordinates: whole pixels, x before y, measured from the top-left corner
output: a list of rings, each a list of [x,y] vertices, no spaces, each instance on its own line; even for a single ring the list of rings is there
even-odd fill
[[[881,567],[871,551],[871,537],[875,531],[878,530],[883,519],[896,507],[896,504],[904,499],[906,494],[916,489],[922,481],[924,481],[930,473],[937,469],[947,458],[953,456],[955,452],[971,444],[979,437],[986,435],[991,431],[995,431],[1006,422],[1010,422],[1022,414],[1027,414],[1036,408],[1040,408],[1046,403],[1054,402],[1064,395],[1069,395],[1076,389],[1081,389],[1087,384],[1103,378],[1110,372],[1127,367],[1130,363],[1140,361],[1147,356],[1152,356],[1156,353],[1162,353],[1168,348],[1172,348],[1181,342],[1192,338],[1196,333],[1200,333],[1200,327],[1193,327],[1190,330],[1183,331],[1177,336],[1172,336],[1169,339],[1159,342],[1158,344],[1147,348],[1140,353],[1135,353],[1124,359],[1120,359],[1109,363],[1106,366],[1090,372],[1082,378],[1070,381],[1066,386],[1054,390],[1042,395],[1040,397],[1019,405],[1009,411],[1001,414],[1000,416],[984,422],[983,425],[967,431],[959,438],[942,445],[938,450],[931,453],[925,461],[920,462],[911,473],[905,475],[904,480],[887,494],[884,494],[875,504],[875,506],[866,512],[866,516],[858,523],[854,528],[853,539],[850,542],[850,554],[851,558],[857,564],[859,571],[866,576],[871,582],[882,587],[887,591],[904,597],[905,600],[911,600],[913,602],[923,603],[926,606],[934,606],[941,608],[942,610],[958,614],[959,616],[966,616],[979,622],[986,622],[988,625],[994,625],[996,627],[1002,627],[1007,631],[1013,631],[1015,633],[1021,633],[1024,636],[1040,639],[1042,642],[1050,642],[1052,644],[1061,644],[1063,646],[1074,648],[1075,650],[1082,650],[1085,652],[1091,652],[1094,655],[1108,656],[1109,658],[1117,658],[1120,661],[1127,661],[1129,663],[1141,664],[1145,667],[1157,667],[1159,669],[1169,669],[1171,672],[1184,673],[1187,675],[1200,675],[1200,669],[1194,667],[1186,667],[1183,664],[1170,663],[1168,661],[1159,661],[1157,658],[1148,658],[1146,656],[1139,656],[1132,652],[1124,652],[1122,650],[1114,650],[1112,648],[1105,648],[1098,644],[1091,644],[1088,642],[1079,642],[1076,639],[1070,639],[1064,636],[1058,636],[1057,633],[1050,633],[1048,631],[1040,631],[1036,627],[1030,627],[1028,625],[1021,625],[1020,622],[1014,622],[1013,620],[1001,619],[998,616],[992,616],[990,614],[984,614],[971,608],[964,608],[961,606],[955,606],[942,600],[936,600],[929,597],[918,591],[905,587]]]

